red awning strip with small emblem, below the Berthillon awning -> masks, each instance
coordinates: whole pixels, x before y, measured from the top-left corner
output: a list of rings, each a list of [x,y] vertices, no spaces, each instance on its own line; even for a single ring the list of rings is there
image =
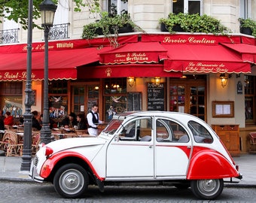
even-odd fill
[[[88,74],[90,71],[90,74]],[[78,79],[108,77],[181,77],[182,73],[163,71],[163,64],[122,64],[78,67]]]

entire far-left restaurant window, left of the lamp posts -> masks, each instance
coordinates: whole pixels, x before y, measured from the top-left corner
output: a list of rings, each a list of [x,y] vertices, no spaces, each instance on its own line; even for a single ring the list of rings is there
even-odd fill
[[[0,102],[3,113],[9,111],[14,118],[23,115],[23,83],[0,83]]]

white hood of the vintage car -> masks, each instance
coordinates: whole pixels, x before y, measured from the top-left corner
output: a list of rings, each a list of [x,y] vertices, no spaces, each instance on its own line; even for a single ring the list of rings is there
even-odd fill
[[[50,147],[53,153],[57,153],[62,150],[79,149],[81,147],[93,147],[102,146],[107,140],[104,138],[65,138],[57,141],[50,142],[45,147]],[[97,148],[97,147],[96,147]]]

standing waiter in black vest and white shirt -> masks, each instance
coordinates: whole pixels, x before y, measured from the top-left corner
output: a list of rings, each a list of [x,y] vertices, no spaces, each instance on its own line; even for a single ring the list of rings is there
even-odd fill
[[[99,106],[94,104],[90,113],[87,114],[89,135],[98,135],[98,125],[103,123],[102,120],[99,120],[98,110],[99,110]]]

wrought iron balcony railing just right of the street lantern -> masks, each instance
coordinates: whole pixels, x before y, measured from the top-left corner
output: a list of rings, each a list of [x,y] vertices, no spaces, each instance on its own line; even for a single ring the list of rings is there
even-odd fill
[[[53,25],[50,28],[49,40],[69,38],[69,23]]]

